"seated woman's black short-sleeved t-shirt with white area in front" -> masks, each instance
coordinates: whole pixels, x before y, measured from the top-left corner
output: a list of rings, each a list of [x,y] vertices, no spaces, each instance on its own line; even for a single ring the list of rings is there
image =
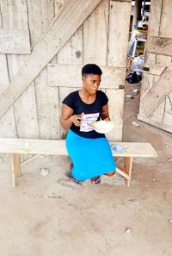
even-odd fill
[[[71,92],[67,97],[64,98],[63,102],[68,107],[74,110],[73,115],[82,116],[81,127],[77,127],[74,124],[71,125],[71,130],[84,137],[84,138],[102,138],[105,134],[99,134],[89,126],[89,123],[100,120],[101,109],[108,102],[108,98],[103,91],[96,91],[95,102],[91,104],[83,103],[78,91]]]

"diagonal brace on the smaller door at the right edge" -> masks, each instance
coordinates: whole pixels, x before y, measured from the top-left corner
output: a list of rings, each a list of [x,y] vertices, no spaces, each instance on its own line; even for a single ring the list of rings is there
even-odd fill
[[[165,100],[170,91],[172,91],[172,64],[163,72],[157,84],[141,99],[138,119],[142,120],[141,116],[150,118],[158,104]]]

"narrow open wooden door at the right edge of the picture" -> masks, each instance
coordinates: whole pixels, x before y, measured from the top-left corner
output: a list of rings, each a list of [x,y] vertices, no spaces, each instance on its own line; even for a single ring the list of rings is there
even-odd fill
[[[172,1],[151,0],[138,119],[172,133]]]

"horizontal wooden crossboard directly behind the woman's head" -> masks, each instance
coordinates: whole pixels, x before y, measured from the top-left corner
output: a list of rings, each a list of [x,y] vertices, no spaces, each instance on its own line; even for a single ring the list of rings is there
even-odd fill
[[[59,87],[82,87],[82,65],[48,64],[48,85]],[[101,66],[101,88],[119,89],[125,83],[125,67]],[[66,74],[68,74],[66,76]]]

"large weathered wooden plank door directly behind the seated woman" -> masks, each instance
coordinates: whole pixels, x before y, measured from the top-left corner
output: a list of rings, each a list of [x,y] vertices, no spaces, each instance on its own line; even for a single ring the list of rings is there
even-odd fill
[[[131,0],[0,0],[0,136],[61,138],[61,102],[81,67],[103,71],[121,140]]]

